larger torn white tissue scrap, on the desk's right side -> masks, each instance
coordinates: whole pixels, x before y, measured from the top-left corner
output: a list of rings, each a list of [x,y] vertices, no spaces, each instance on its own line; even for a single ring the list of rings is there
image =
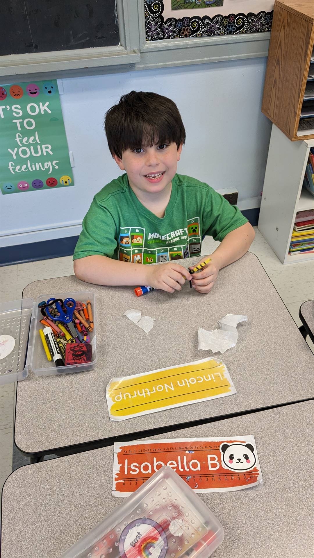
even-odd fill
[[[198,328],[198,349],[211,350],[213,353],[222,354],[227,349],[235,347],[238,336],[236,326],[241,321],[248,321],[248,316],[227,314],[218,321],[220,329],[207,331]]]

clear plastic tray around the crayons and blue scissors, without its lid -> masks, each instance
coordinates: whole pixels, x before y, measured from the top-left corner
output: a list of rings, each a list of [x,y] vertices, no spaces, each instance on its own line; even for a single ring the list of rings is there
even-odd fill
[[[71,364],[68,366],[55,366],[53,360],[47,360],[44,347],[39,335],[39,330],[44,328],[40,323],[42,315],[39,303],[43,300],[48,300],[51,297],[55,299],[67,299],[68,297],[74,299],[75,301],[81,301],[86,304],[87,300],[91,301],[93,318],[94,318],[94,329],[89,333],[90,343],[92,345],[93,354],[91,362],[84,364]],[[54,294],[40,295],[38,299],[34,302],[34,310],[32,314],[30,339],[28,341],[28,352],[26,358],[26,367],[36,374],[36,376],[52,376],[54,374],[66,374],[72,372],[83,372],[86,370],[92,370],[96,366],[96,308],[95,308],[95,297],[92,292],[58,292]]]

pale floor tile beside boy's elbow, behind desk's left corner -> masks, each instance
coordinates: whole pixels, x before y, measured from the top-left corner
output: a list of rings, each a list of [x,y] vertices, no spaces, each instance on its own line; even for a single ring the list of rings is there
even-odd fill
[[[44,259],[39,262],[19,263],[17,266],[17,292],[22,297],[23,288],[32,281],[73,275],[72,256]]]

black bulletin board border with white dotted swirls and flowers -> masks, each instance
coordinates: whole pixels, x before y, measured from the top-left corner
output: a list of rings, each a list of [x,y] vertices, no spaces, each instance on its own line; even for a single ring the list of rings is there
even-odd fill
[[[212,37],[239,35],[240,33],[264,33],[270,31],[273,11],[258,13],[230,13],[229,16],[192,16],[164,21],[163,0],[144,0],[146,41],[161,39],[187,39],[189,37]]]

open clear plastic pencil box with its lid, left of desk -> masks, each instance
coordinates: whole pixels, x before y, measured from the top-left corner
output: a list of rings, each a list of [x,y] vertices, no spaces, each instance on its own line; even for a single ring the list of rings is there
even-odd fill
[[[39,335],[39,330],[45,326],[40,323],[42,315],[38,305],[51,297],[63,300],[70,297],[85,304],[87,300],[91,301],[94,319],[94,329],[89,332],[93,350],[91,362],[57,367],[53,360],[47,360]],[[27,378],[30,371],[36,376],[52,376],[92,370],[97,359],[96,328],[95,297],[92,292],[48,293],[40,295],[37,300],[22,299],[0,304],[0,335],[11,335],[15,339],[12,352],[0,359],[0,385],[21,381]]]

